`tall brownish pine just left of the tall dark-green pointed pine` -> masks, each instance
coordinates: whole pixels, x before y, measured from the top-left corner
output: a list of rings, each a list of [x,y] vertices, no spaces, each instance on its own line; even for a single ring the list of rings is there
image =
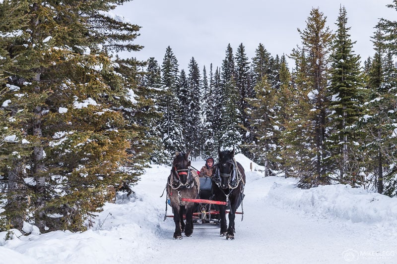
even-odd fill
[[[291,145],[295,152],[295,170],[301,175],[299,186],[310,188],[328,184],[325,158],[327,140],[327,80],[328,55],[333,35],[326,27],[326,17],[313,8],[304,30],[298,29],[302,48],[294,49],[291,56],[297,64],[296,85],[299,104],[295,121],[288,124]],[[292,158],[292,157],[290,157]]]

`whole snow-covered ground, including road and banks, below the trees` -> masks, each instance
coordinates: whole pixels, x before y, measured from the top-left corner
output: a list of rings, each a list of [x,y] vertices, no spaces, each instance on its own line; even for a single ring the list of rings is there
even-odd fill
[[[0,264],[397,263],[397,198],[344,185],[301,190],[294,179],[263,178],[250,171],[250,160],[236,159],[247,183],[234,241],[213,224],[196,224],[192,237],[174,240],[160,198],[170,168],[155,165],[133,188],[135,196],[107,204],[91,230],[15,231],[8,241],[0,233]]]

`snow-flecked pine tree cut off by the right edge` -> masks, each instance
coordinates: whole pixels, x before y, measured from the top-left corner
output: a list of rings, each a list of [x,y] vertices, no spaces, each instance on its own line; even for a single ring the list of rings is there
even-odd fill
[[[371,163],[376,176],[376,189],[379,193],[396,195],[396,66],[391,51],[385,49],[384,33],[379,24],[374,36],[376,53],[369,68],[369,94],[362,123],[366,132],[365,146],[367,153],[373,157]],[[389,47],[390,48],[390,47]],[[386,53],[386,54],[385,54]],[[369,162],[368,162],[369,163]],[[386,188],[384,185],[386,183]]]

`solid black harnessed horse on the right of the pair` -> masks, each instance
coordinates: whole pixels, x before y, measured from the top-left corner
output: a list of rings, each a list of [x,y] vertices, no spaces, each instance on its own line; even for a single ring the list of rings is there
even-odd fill
[[[227,240],[234,239],[234,219],[237,208],[244,197],[245,172],[243,166],[234,159],[233,151],[218,151],[219,162],[214,165],[212,173],[212,193],[214,200],[223,201],[230,205],[229,226],[226,223],[226,206],[219,206],[220,236]]]

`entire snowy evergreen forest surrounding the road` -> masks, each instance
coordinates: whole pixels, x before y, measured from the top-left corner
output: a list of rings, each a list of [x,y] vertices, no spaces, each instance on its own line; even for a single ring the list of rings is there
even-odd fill
[[[361,58],[345,8],[337,21],[313,8],[292,52],[259,43],[248,58],[225,40],[219,65],[179,69],[169,46],[133,57],[140,27],[111,13],[128,1],[0,1],[0,231],[85,230],[175,152],[235,148],[300,188],[397,195],[396,21],[374,25]]]

